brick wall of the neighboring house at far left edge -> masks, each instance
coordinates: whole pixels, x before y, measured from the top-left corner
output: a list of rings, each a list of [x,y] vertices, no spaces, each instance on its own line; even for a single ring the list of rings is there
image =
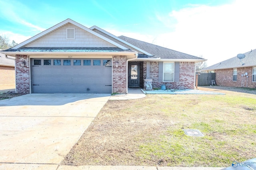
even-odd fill
[[[15,84],[14,66],[0,66],[0,85]]]

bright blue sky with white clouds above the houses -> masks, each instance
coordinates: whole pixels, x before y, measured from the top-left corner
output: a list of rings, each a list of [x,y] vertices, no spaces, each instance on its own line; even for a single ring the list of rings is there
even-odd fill
[[[210,66],[256,49],[255,5],[255,0],[0,0],[0,35],[21,43],[70,18],[202,56]]]

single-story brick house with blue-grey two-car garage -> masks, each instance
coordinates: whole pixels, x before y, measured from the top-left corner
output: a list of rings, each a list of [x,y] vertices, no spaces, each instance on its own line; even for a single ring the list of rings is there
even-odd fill
[[[195,63],[206,61],[70,19],[1,53],[16,57],[19,93],[127,93],[147,81],[194,89]]]

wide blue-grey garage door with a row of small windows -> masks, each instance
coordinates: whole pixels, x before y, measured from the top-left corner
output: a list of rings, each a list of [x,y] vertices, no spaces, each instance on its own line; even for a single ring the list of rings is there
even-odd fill
[[[111,93],[111,59],[31,59],[32,93]]]

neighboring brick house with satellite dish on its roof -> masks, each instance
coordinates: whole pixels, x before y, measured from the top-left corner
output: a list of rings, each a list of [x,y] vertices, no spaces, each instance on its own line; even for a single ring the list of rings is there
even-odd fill
[[[218,86],[256,88],[256,50],[244,53],[244,59],[233,57],[202,71],[214,71]]]

